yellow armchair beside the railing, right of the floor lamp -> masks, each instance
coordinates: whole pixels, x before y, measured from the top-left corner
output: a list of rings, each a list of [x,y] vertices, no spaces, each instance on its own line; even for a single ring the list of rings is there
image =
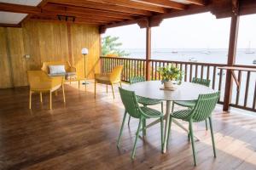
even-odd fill
[[[94,88],[94,94],[96,98],[96,83],[106,84],[107,85],[107,93],[108,93],[108,85],[111,85],[112,93],[113,93],[113,84],[121,84],[121,73],[123,70],[123,65],[118,65],[113,68],[113,71],[110,73],[102,73],[102,74],[96,74],[95,75],[95,88]],[[113,93],[113,99],[114,99],[114,93]]]

